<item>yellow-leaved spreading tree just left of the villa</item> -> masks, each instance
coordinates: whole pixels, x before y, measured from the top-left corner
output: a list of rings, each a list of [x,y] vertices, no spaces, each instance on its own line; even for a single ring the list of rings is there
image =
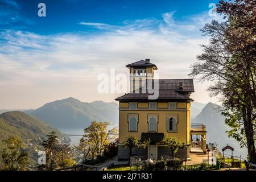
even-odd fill
[[[94,155],[101,155],[104,147],[110,140],[114,140],[117,136],[117,129],[108,130],[109,122],[93,121],[89,127],[84,129],[84,141],[88,142],[92,159]]]

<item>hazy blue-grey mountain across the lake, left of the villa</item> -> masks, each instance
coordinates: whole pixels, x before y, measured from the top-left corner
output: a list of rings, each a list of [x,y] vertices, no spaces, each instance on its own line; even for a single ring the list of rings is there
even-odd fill
[[[118,104],[115,102],[81,102],[69,97],[53,101],[30,112],[54,127],[87,127],[92,121],[118,123]]]

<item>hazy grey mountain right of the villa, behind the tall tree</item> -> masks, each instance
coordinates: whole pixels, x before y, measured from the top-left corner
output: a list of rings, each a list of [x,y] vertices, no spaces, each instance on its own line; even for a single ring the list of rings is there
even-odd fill
[[[220,106],[209,102],[196,118],[191,119],[191,123],[204,123],[207,130],[207,143],[216,142],[218,144],[218,150],[221,150],[226,144],[234,148],[234,155],[241,155],[246,159],[246,148],[240,148],[237,140],[229,138],[226,134],[226,130],[230,128],[224,123],[225,117],[221,115],[221,111],[218,109]],[[227,151],[227,154],[231,153]]]

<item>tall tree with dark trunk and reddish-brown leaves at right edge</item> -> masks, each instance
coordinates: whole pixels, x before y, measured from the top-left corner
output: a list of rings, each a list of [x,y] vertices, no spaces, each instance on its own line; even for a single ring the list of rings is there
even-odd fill
[[[247,147],[249,161],[256,163],[256,2],[220,1],[217,12],[226,21],[213,20],[201,29],[210,36],[204,53],[197,56],[190,76],[214,81],[211,96],[222,96],[222,114],[232,127],[228,134]]]

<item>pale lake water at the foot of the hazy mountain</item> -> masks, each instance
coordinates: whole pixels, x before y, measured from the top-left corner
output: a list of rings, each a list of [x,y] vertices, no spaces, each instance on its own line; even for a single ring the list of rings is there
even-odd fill
[[[61,131],[61,133],[69,134],[69,135],[83,135],[84,129],[83,128],[72,128],[72,127],[61,127],[57,128]],[[69,136],[71,139],[71,145],[73,144],[79,144],[79,140],[82,138],[82,136]]]

